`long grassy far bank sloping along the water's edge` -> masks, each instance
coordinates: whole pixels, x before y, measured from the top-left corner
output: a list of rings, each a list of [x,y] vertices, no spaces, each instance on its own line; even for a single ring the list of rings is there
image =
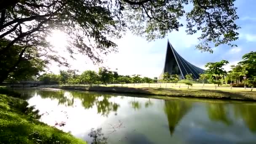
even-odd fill
[[[180,96],[211,99],[233,99],[256,101],[256,92],[240,90],[208,90],[185,88],[129,88],[129,87],[101,87],[83,85],[42,85],[45,88],[63,88],[85,91],[104,91],[115,93],[150,94],[160,96]]]

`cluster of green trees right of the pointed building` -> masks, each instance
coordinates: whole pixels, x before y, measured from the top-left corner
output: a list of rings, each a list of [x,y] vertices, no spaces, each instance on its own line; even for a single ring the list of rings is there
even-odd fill
[[[237,65],[232,65],[229,72],[223,68],[229,61],[209,62],[205,65],[208,69],[204,74],[200,74],[200,80],[203,82],[207,80],[218,86],[224,83],[230,84],[231,88],[232,86],[253,88],[256,86],[256,51],[246,53],[242,59]]]

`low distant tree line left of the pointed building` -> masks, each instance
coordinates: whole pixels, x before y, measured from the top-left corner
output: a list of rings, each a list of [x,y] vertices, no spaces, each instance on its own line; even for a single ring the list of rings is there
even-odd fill
[[[156,83],[157,77],[151,79],[149,77],[140,77],[141,75],[119,75],[116,71],[111,71],[105,67],[99,68],[99,71],[86,70],[80,75],[77,70],[61,70],[59,75],[45,73],[38,77],[38,80],[44,84],[115,84],[120,83]]]

